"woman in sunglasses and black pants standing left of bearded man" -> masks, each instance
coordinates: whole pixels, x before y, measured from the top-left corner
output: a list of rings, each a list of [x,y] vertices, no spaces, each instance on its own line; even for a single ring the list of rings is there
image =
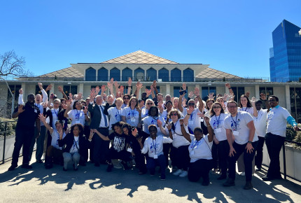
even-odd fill
[[[214,143],[218,148],[218,167],[221,169],[221,176],[218,180],[227,178],[228,171],[228,154],[230,146],[228,144],[226,130],[225,130],[225,114],[223,106],[219,102],[214,102],[211,109],[210,125],[214,130]]]

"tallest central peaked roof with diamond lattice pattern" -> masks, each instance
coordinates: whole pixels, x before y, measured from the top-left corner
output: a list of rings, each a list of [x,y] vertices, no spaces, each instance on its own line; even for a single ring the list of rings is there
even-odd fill
[[[121,57],[109,59],[101,64],[179,64],[148,52],[138,50]]]

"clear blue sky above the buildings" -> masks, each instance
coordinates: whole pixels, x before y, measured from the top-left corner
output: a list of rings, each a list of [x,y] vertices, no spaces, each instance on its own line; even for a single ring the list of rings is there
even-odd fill
[[[301,26],[300,0],[2,1],[0,53],[38,76],[143,50],[182,64],[269,77],[272,31]]]

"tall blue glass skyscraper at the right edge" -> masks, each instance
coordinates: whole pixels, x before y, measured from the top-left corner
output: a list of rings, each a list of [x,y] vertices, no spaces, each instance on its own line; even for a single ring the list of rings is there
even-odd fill
[[[272,82],[301,81],[301,28],[283,20],[272,32],[269,71]]]

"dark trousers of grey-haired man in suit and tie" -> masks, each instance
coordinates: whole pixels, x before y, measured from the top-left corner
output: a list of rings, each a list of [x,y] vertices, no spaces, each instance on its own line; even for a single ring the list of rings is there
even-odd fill
[[[108,128],[99,127],[97,128],[97,130],[104,136],[108,136],[109,134]],[[93,161],[97,164],[99,164],[100,162],[105,163],[109,153],[110,141],[104,141],[98,135],[96,135],[93,136],[92,138],[92,145],[93,145]]]

